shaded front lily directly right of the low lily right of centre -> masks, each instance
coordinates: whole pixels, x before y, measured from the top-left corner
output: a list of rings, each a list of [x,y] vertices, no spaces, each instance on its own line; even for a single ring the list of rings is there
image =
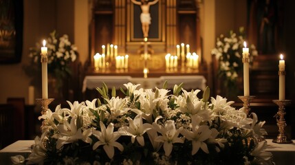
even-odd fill
[[[211,137],[212,131],[209,129],[208,125],[199,125],[201,118],[197,115],[192,117],[192,131],[188,129],[182,130],[182,135],[186,137],[187,140],[191,140],[193,144],[192,155],[195,155],[199,148],[205,153],[209,153],[207,144],[204,142]]]

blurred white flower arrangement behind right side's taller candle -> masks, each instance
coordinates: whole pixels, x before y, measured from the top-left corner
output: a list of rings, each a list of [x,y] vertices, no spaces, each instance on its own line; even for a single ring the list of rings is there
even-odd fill
[[[230,36],[226,37],[221,34],[217,38],[216,47],[211,51],[215,54],[218,66],[218,75],[224,78],[224,85],[226,89],[232,91],[237,89],[237,78],[239,72],[243,68],[242,54],[244,40],[244,28],[239,29],[239,34],[230,30]],[[258,56],[255,45],[251,44],[250,47],[250,64],[254,56]],[[236,96],[236,94],[234,94]]]

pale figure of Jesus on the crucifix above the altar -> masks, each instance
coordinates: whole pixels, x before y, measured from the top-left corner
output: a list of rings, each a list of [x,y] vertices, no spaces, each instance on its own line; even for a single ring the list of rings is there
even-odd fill
[[[154,5],[159,0],[149,1],[149,0],[131,0],[135,5],[140,5],[142,9],[142,13],[140,14],[140,21],[142,22],[142,32],[144,34],[144,38],[149,36],[149,25],[151,24],[151,14],[149,13],[149,7]]]

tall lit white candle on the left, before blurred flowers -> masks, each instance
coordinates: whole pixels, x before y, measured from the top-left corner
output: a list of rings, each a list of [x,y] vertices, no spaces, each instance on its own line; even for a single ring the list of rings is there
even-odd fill
[[[45,47],[46,41],[43,40],[43,47],[41,47],[41,60],[42,63],[42,98],[48,98],[48,82],[47,82],[47,47]]]

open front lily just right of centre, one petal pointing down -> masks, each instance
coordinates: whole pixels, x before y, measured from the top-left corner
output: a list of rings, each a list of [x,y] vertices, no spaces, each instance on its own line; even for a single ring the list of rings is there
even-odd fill
[[[157,132],[162,134],[155,138],[155,142],[164,142],[164,151],[166,156],[171,154],[173,143],[184,143],[184,140],[178,137],[183,127],[180,127],[176,130],[173,120],[168,120],[164,127],[155,122],[153,122],[153,126],[155,127]]]

